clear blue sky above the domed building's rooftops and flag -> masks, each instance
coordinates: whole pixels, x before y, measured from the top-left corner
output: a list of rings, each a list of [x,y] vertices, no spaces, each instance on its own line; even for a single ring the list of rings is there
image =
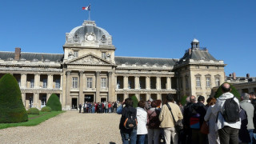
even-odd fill
[[[256,77],[254,0],[2,0],[0,50],[62,54],[65,34],[90,18],[113,37],[116,56],[182,58],[197,38],[226,75]]]

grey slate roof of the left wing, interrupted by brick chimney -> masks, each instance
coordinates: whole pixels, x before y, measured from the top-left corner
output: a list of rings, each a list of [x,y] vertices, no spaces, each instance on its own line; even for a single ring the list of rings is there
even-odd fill
[[[2,60],[9,60],[10,58],[14,59],[14,52],[5,52],[0,51],[0,58]],[[21,52],[20,60],[24,58],[26,61],[34,61],[38,59],[38,61],[46,61],[49,60],[50,62],[62,62],[64,58],[64,54],[46,54],[46,53],[24,53]]]

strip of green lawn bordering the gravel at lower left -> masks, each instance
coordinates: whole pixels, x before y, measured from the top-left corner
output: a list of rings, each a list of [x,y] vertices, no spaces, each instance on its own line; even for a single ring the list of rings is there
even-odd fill
[[[39,114],[29,114],[29,121],[19,122],[19,123],[0,123],[0,130],[6,129],[8,127],[16,126],[37,126],[41,122],[45,122],[49,118],[53,118],[58,114],[62,114],[65,111],[51,111],[51,112],[41,112]]]

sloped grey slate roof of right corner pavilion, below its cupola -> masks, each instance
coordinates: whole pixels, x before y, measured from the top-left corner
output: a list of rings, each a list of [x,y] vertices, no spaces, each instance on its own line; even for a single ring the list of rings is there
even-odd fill
[[[179,60],[178,63],[182,63],[183,61],[186,61],[188,59],[194,59],[194,60],[206,60],[206,61],[216,61],[216,59],[208,52],[206,49],[194,49],[191,50],[186,50],[186,53],[184,56]]]

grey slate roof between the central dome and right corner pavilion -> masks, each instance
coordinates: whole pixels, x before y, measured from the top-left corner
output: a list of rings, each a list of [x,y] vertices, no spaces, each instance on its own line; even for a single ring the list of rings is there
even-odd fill
[[[178,59],[175,58],[139,58],[139,57],[120,57],[115,56],[114,61],[118,64],[129,64],[129,65],[150,65],[153,66],[155,64],[159,66],[167,65],[174,66]]]

